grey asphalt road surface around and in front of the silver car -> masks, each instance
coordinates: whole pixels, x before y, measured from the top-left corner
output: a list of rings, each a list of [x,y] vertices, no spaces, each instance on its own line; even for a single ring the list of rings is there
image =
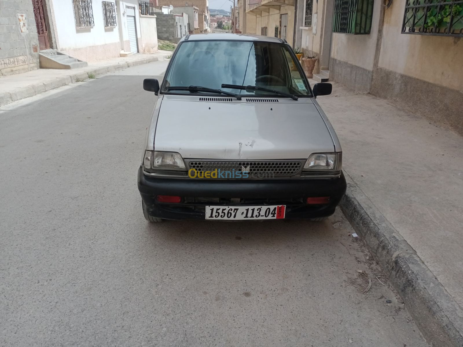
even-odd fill
[[[0,345],[427,346],[339,211],[144,220],[142,81],[165,66],[0,108]]]

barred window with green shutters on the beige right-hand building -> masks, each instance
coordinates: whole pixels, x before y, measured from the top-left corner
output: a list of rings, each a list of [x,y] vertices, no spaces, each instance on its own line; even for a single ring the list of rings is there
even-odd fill
[[[369,34],[374,0],[334,0],[333,32]]]

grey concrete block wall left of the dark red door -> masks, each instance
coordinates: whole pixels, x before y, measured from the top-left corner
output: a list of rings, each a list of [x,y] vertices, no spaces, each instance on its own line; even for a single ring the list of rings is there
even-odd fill
[[[21,32],[18,14],[26,15],[28,32]],[[32,1],[0,1],[0,76],[37,69],[38,51]]]

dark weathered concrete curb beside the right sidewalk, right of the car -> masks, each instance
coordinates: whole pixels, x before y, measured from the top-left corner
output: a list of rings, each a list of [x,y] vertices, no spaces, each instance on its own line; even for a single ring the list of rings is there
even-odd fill
[[[348,174],[340,207],[432,346],[463,346],[463,310]]]

